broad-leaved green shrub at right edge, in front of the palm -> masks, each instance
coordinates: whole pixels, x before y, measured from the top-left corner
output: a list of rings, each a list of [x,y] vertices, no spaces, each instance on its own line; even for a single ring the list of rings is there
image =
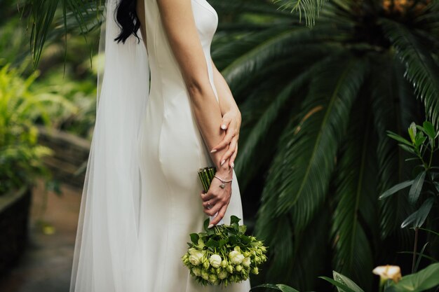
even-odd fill
[[[412,225],[414,229],[412,272],[415,272],[417,269],[416,256],[419,228],[426,222],[433,206],[439,208],[439,167],[433,166],[433,161],[435,161],[433,160],[434,153],[439,150],[439,130],[436,131],[433,125],[426,121],[422,126],[412,123],[408,128],[408,133],[410,141],[391,131],[389,131],[389,137],[398,141],[399,146],[410,153],[412,157],[407,158],[407,160],[414,160],[419,163],[414,166],[414,173],[417,175],[410,181],[404,181],[389,188],[379,196],[379,199],[382,200],[398,193],[399,190],[410,187],[408,200],[417,207],[417,210],[405,218],[401,223],[401,228]],[[439,214],[439,212],[435,212],[435,214]],[[434,222],[437,220],[438,218],[431,218],[430,221],[427,221],[427,229],[432,230],[435,227]],[[438,239],[437,236],[433,235],[431,241],[438,242]]]

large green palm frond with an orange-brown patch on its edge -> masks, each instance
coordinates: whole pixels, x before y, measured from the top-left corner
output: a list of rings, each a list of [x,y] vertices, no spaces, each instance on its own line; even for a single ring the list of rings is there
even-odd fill
[[[296,230],[309,223],[324,200],[337,147],[366,74],[363,60],[345,57],[313,78],[302,120],[285,130],[285,148],[278,153],[283,159],[271,166],[260,214],[276,219],[290,213]]]

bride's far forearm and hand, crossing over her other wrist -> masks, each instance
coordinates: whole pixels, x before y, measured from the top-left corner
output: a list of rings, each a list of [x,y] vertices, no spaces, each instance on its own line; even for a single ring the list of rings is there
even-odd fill
[[[222,141],[214,146],[211,151],[215,152],[226,146],[228,150],[222,155],[220,160],[229,160],[229,165],[234,167],[234,161],[236,154],[238,153],[238,139],[239,130],[241,128],[241,112],[236,105],[234,96],[231,93],[227,81],[224,79],[222,74],[219,72],[212,58],[210,58],[213,69],[213,81],[215,83],[215,88],[217,89],[219,109],[222,113],[222,130],[227,130],[225,137]]]

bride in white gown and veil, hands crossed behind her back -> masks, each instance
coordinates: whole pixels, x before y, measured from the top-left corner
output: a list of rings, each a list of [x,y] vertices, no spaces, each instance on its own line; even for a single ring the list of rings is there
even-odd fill
[[[206,215],[210,228],[243,218],[241,114],[210,57],[217,25],[206,0],[107,0],[70,292],[250,289],[201,286],[181,262]],[[207,166],[217,177],[203,193]]]

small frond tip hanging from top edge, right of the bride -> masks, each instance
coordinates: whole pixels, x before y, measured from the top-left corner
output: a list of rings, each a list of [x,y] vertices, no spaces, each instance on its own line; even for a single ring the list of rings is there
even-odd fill
[[[316,24],[316,18],[327,0],[273,0],[274,3],[280,4],[280,8],[289,10],[291,13],[298,12],[299,20],[302,21],[302,13],[305,15],[306,26],[313,27]]]

